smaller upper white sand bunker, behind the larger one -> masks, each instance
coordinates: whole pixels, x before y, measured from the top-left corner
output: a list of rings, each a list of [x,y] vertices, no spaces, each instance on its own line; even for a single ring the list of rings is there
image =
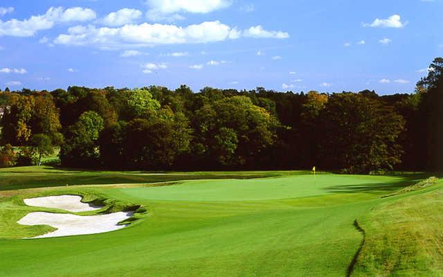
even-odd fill
[[[87,203],[80,202],[82,197],[78,195],[59,195],[24,199],[28,206],[43,208],[60,208],[70,212],[85,212],[100,210],[102,207],[92,206]]]

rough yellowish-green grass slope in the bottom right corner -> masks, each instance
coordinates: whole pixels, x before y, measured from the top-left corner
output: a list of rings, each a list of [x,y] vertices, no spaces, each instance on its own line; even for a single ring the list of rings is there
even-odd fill
[[[443,276],[442,210],[442,181],[374,206],[354,276]]]

